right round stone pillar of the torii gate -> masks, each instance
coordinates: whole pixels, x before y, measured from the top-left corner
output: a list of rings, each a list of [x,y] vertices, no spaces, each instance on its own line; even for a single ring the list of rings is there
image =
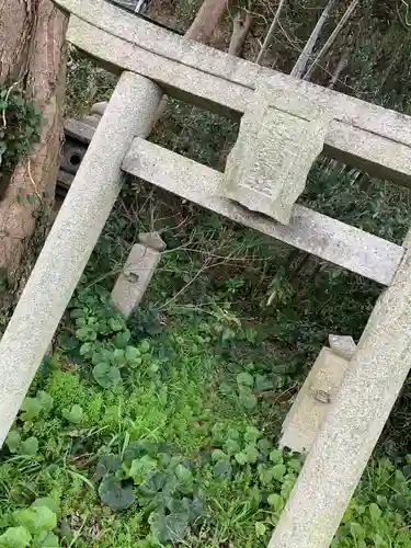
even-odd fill
[[[404,247],[409,243],[406,240]],[[411,250],[379,297],[269,548],[328,548],[411,366]]]

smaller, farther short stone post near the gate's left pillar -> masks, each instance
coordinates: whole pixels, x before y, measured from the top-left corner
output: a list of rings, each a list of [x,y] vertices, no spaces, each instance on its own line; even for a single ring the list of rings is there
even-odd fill
[[[156,241],[156,239],[153,238]],[[159,246],[159,242],[156,242]],[[129,318],[139,305],[156,272],[161,252],[142,243],[135,243],[126,261],[123,272],[112,292],[114,306],[124,318]]]

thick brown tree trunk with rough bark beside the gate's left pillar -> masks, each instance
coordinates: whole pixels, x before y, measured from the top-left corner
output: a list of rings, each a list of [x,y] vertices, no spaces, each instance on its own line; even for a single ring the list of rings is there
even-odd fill
[[[4,281],[14,290],[24,283],[23,272],[30,270],[42,246],[35,237],[44,237],[54,199],[64,138],[67,16],[50,0],[0,0],[0,82],[19,82],[20,88],[32,92],[43,115],[39,142],[14,169],[0,201],[3,312],[10,297],[4,297]]]

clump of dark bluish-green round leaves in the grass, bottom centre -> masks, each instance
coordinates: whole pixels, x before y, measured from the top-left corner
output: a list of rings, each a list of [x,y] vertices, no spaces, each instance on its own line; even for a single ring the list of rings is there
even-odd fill
[[[149,509],[151,535],[160,543],[182,540],[204,513],[193,465],[170,449],[164,443],[133,442],[122,457],[102,455],[95,473],[102,480],[100,498],[113,511],[134,503]]]

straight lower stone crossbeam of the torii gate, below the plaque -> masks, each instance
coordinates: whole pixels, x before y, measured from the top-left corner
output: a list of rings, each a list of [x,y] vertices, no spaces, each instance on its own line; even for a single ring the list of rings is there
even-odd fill
[[[389,285],[404,250],[296,205],[289,225],[279,225],[219,195],[222,174],[152,142],[135,139],[123,169],[182,198],[254,228],[344,269]]]

